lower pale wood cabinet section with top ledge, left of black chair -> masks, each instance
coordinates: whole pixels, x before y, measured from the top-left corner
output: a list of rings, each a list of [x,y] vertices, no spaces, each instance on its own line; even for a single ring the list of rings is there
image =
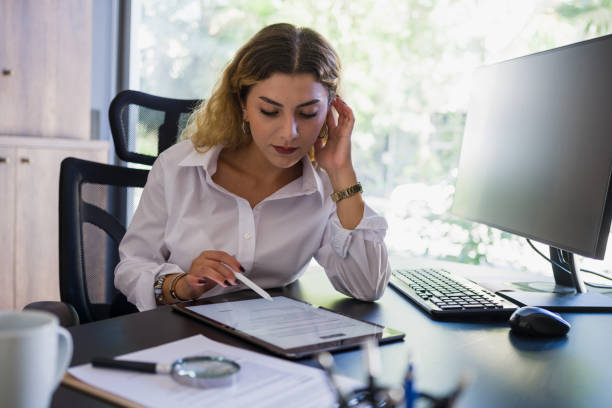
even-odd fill
[[[0,136],[0,309],[59,300],[59,171],[69,156],[105,163],[108,143]]]

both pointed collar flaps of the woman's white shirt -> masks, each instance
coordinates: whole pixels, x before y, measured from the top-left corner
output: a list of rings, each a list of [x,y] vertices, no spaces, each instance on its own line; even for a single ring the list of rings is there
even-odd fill
[[[217,160],[219,154],[223,150],[223,146],[213,146],[205,152],[199,152],[194,147],[187,153],[185,158],[180,161],[179,166],[181,167],[202,167],[204,171],[212,177],[217,171]],[[318,192],[321,196],[321,203],[325,201],[324,187],[319,170],[315,169],[308,156],[302,158],[302,183],[295,184],[295,190],[289,188],[289,191],[285,191],[283,196],[288,195],[306,195]],[[293,184],[293,183],[292,183]]]

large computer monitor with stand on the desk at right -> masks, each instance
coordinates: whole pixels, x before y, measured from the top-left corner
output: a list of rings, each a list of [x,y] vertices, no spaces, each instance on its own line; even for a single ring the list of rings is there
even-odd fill
[[[612,311],[573,254],[603,259],[612,215],[612,35],[476,70],[452,212],[550,245],[551,291],[500,293]],[[570,287],[571,289],[568,289]]]

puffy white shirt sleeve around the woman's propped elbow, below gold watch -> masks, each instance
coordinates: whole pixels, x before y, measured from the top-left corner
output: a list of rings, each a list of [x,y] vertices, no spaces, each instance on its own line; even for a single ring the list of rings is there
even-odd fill
[[[343,228],[333,211],[315,259],[337,291],[367,301],[383,295],[391,275],[386,232],[387,221],[367,205],[354,230]]]

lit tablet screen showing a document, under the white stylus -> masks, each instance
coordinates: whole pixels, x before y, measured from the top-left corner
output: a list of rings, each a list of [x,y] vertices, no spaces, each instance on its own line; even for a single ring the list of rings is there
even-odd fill
[[[240,300],[187,309],[283,349],[375,335],[382,328],[284,296],[274,302]]]

